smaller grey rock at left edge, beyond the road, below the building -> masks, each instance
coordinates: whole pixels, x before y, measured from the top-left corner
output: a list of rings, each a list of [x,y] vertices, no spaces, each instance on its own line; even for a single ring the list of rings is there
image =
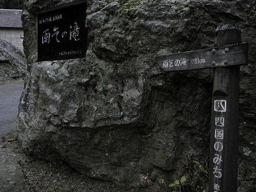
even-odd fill
[[[25,55],[9,42],[0,39],[0,82],[25,77]]]

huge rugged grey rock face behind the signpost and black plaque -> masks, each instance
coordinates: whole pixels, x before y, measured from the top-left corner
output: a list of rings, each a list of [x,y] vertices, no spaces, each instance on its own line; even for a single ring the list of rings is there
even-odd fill
[[[238,24],[249,42],[241,67],[238,191],[255,190],[256,11],[247,1],[89,0],[86,58],[35,62],[41,10],[79,1],[26,2],[26,88],[17,118],[28,154],[141,191],[165,190],[191,157],[207,167],[211,70],[163,73],[155,58],[214,46]],[[188,162],[187,162],[188,161]],[[195,183],[207,186],[207,178]]]

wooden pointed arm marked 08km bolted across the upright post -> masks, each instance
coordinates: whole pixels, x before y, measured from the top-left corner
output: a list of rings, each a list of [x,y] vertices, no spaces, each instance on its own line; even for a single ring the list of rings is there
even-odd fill
[[[163,55],[156,61],[170,72],[246,65],[247,43]]]

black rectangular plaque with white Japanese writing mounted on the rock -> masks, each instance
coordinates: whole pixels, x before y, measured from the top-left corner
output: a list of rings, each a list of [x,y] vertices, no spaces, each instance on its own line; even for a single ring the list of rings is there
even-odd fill
[[[82,3],[37,15],[38,61],[86,56],[86,10]]]

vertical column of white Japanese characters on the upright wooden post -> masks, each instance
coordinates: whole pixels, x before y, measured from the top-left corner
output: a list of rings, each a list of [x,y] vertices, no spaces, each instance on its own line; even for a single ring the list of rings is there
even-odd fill
[[[224,127],[225,127],[225,118],[224,113],[227,111],[227,101],[226,100],[214,100],[214,111],[216,116],[214,119],[214,158],[211,160],[214,162],[214,167],[210,172],[214,174],[214,192],[221,191],[221,179],[223,173],[223,159],[222,154],[224,150]]]

